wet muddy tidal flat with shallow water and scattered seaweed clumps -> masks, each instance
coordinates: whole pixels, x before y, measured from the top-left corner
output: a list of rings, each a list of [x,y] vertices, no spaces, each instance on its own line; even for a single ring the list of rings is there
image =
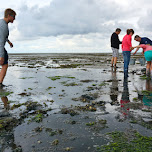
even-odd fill
[[[122,55],[114,69],[111,54],[11,54],[0,151],[95,152],[112,142],[107,133],[151,137],[152,82],[134,58],[124,80]]]

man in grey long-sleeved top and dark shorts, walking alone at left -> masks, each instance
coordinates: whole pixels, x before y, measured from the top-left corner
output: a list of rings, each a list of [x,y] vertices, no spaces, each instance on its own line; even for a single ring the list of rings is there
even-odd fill
[[[0,87],[2,88],[3,80],[5,78],[7,68],[8,68],[8,54],[4,48],[5,43],[8,42],[10,47],[13,47],[13,44],[8,40],[9,29],[8,23],[13,23],[15,20],[16,12],[10,8],[6,9],[4,12],[4,19],[0,19],[0,65],[2,69],[0,71]]]

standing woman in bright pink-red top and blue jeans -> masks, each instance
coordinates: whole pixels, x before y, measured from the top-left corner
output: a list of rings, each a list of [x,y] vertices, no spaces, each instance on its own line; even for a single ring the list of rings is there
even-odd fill
[[[131,53],[131,40],[132,35],[134,34],[133,29],[127,29],[127,34],[123,37],[122,40],[122,53],[124,59],[124,78],[128,77],[128,66],[130,62],[130,53]]]

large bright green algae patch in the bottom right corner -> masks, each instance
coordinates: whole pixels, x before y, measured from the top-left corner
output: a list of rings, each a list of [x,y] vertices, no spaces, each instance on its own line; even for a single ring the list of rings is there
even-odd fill
[[[131,134],[111,132],[107,134],[112,141],[108,145],[97,148],[100,152],[151,152],[152,137],[142,136],[137,131]]]

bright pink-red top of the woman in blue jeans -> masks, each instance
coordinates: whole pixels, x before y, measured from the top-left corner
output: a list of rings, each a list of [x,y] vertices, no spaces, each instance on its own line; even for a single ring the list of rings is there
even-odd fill
[[[131,35],[125,35],[123,37],[123,40],[122,40],[122,51],[131,51],[130,50],[130,47],[132,47],[132,44],[131,44]]]

